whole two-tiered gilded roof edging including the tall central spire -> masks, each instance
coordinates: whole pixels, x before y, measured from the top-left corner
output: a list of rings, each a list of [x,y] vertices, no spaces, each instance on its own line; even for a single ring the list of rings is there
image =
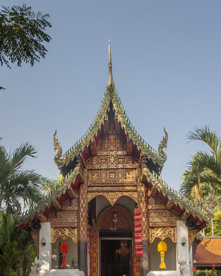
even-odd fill
[[[108,75],[108,83],[107,90],[104,92],[104,97],[102,99],[102,103],[99,106],[99,110],[93,123],[90,124],[90,127],[86,131],[86,133],[79,139],[74,146],[72,146],[67,152],[62,155],[62,148],[59,144],[59,141],[56,139],[57,131],[53,136],[53,142],[55,146],[55,150],[57,150],[57,154],[55,155],[55,163],[61,169],[64,166],[68,166],[68,164],[72,163],[73,166],[68,169],[68,173],[64,174],[64,179],[61,181],[61,184],[55,188],[55,191],[48,195],[47,199],[39,202],[37,208],[33,208],[29,210],[28,213],[24,214],[21,217],[20,221],[23,222],[23,226],[30,224],[31,221],[35,221],[37,217],[42,213],[49,213],[50,210],[53,210],[52,204],[58,200],[61,204],[64,199],[66,199],[68,188],[75,190],[79,185],[79,181],[77,179],[77,175],[79,175],[79,167],[76,166],[77,157],[84,152],[86,148],[89,147],[90,142],[93,141],[98,132],[102,129],[102,125],[104,124],[104,120],[108,112],[110,111],[110,106],[112,106],[113,111],[115,112],[115,118],[117,118],[120,123],[122,129],[126,133],[128,139],[133,141],[133,144],[137,147],[140,152],[142,152],[143,156],[146,156],[148,159],[153,161],[153,164],[157,164],[160,168],[164,165],[166,161],[166,154],[164,152],[164,148],[167,146],[167,133],[165,132],[165,137],[162,139],[158,151],[154,150],[150,145],[144,141],[144,139],[139,135],[137,130],[135,130],[134,126],[131,124],[131,121],[128,119],[126,115],[126,111],[122,104],[121,99],[115,90],[115,84],[112,76],[112,63],[111,63],[111,46],[109,41],[109,75]],[[211,213],[204,211],[200,206],[195,206],[179,195],[175,190],[169,187],[162,178],[157,175],[155,172],[151,172],[148,168],[143,169],[143,173],[147,179],[147,181],[163,195],[164,200],[171,200],[174,204],[179,206],[180,210],[186,210],[187,213],[191,214],[192,217],[196,217],[202,221],[209,221],[211,219]],[[78,183],[77,183],[78,181]]]

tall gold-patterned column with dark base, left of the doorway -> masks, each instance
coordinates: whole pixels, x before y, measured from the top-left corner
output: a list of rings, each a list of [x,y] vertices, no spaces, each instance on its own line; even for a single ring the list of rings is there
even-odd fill
[[[88,275],[88,201],[87,186],[85,183],[79,186],[78,198],[78,269]]]

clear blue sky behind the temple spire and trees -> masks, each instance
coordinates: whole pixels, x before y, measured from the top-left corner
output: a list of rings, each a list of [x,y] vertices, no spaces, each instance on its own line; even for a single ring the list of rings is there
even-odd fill
[[[1,5],[23,1],[2,0]],[[200,142],[186,143],[194,127],[221,135],[221,1],[26,1],[50,14],[48,55],[35,66],[0,68],[0,137],[8,150],[28,141],[38,150],[26,168],[56,177],[52,135],[64,151],[95,117],[113,77],[137,131],[157,150],[169,134],[163,179],[179,189]]]

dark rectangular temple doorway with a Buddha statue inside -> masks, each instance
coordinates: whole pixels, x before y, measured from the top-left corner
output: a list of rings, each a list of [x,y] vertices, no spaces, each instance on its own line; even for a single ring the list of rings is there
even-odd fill
[[[132,240],[101,239],[101,276],[132,276]]]

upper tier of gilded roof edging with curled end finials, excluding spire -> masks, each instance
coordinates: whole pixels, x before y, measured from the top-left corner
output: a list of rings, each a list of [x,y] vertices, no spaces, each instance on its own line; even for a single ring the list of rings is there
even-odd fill
[[[166,161],[166,153],[163,151],[163,148],[166,148],[167,144],[167,133],[165,132],[165,137],[162,139],[158,151],[153,149],[149,144],[144,141],[144,139],[139,135],[137,130],[135,130],[133,124],[128,119],[126,115],[126,111],[122,104],[121,99],[117,93],[117,90],[108,91],[104,93],[104,98],[102,99],[102,103],[100,104],[99,110],[93,123],[90,124],[90,127],[85,132],[85,134],[79,139],[74,146],[72,146],[68,151],[62,155],[62,149],[55,138],[57,131],[55,131],[55,135],[53,137],[55,150],[58,150],[57,155],[55,155],[55,163],[59,168],[68,164],[70,161],[73,161],[75,157],[79,155],[79,153],[84,150],[85,147],[89,146],[90,141],[93,141],[97,132],[102,128],[104,124],[104,119],[106,118],[107,112],[110,109],[110,103],[113,103],[113,110],[115,111],[115,116],[117,116],[117,120],[121,124],[124,131],[128,134],[128,137],[133,141],[133,144],[137,146],[139,150],[142,151],[143,155],[146,155],[150,158],[154,164],[159,164],[160,166],[164,165]]]

